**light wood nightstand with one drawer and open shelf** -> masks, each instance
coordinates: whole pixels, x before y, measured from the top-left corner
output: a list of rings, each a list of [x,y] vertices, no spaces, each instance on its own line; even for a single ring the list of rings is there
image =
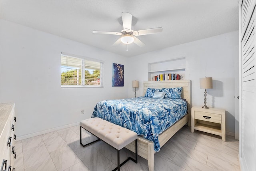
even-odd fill
[[[220,135],[222,141],[226,141],[226,117],[225,110],[212,108],[204,109],[201,106],[191,108],[191,132],[204,131]]]

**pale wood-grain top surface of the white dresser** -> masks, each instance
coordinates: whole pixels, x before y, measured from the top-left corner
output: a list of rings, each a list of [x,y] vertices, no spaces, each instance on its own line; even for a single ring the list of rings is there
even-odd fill
[[[15,103],[0,103],[0,136],[14,106]]]

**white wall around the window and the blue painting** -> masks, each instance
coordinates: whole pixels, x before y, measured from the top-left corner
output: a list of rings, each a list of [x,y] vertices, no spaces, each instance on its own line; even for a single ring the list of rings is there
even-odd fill
[[[61,88],[60,52],[103,60],[104,88]],[[112,87],[113,62],[124,65],[124,87]],[[126,57],[0,20],[0,103],[16,102],[18,137],[79,122],[98,101],[127,97],[127,64]]]

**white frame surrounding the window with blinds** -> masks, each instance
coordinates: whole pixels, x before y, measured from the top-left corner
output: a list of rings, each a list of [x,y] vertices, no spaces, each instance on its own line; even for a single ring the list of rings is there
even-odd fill
[[[62,64],[60,62],[60,85],[61,88],[103,88],[104,87],[104,61],[102,60],[97,60],[94,58],[88,58],[85,56],[78,56],[74,54],[68,54],[66,52],[61,52],[60,53],[60,60],[62,56],[70,57],[70,58],[78,58],[82,60],[82,70],[81,70],[81,84],[85,83],[85,62],[84,61],[91,61],[91,62],[99,62],[100,63],[100,85],[62,85],[61,84],[61,74],[62,74]]]

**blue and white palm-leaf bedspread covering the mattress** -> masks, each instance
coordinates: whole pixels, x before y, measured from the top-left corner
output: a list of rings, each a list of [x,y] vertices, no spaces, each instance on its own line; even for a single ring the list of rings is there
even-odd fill
[[[104,100],[94,107],[92,117],[120,125],[143,135],[154,142],[154,150],[160,150],[158,135],[187,113],[184,99],[130,99]]]

